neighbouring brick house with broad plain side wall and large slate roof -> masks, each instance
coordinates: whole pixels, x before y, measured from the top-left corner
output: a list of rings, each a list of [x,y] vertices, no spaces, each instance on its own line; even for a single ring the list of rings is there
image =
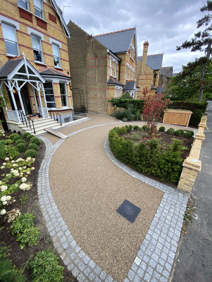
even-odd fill
[[[73,104],[90,113],[109,114],[111,98],[128,91],[137,97],[138,64],[136,28],[92,36],[71,20],[68,23]],[[75,91],[75,89],[80,89]]]

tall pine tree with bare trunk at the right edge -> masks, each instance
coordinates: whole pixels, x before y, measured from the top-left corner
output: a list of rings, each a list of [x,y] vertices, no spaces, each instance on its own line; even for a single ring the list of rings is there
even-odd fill
[[[210,61],[210,57],[212,54],[212,1],[207,1],[207,4],[204,5],[201,9],[201,12],[208,11],[203,18],[197,21],[197,28],[202,26],[206,26],[204,31],[199,31],[194,34],[194,38],[190,41],[186,40],[182,43],[181,46],[177,46],[177,50],[181,49],[191,49],[192,52],[195,51],[205,51],[205,57],[200,57],[196,59],[193,63],[194,66],[201,65],[201,75],[199,80],[199,101],[202,101],[202,94],[204,89],[204,75],[205,75],[205,66]]]

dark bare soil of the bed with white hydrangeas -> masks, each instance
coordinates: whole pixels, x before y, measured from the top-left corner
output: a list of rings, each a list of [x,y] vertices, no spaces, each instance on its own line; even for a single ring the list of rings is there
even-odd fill
[[[6,135],[9,136],[10,134],[6,133]],[[7,136],[5,136],[4,138],[6,138]],[[3,137],[1,137],[1,139],[3,139]],[[20,190],[20,191],[16,191],[15,193],[11,194],[11,196],[16,199],[16,202],[6,206],[6,210],[9,211],[9,210],[12,210],[13,208],[17,208],[20,210],[21,214],[24,214],[26,212],[31,212],[36,215],[36,218],[35,218],[36,220],[40,219],[39,214],[35,210],[35,208],[41,210],[39,206],[38,195],[37,195],[37,177],[38,177],[38,170],[44,158],[45,150],[46,150],[45,144],[41,141],[41,144],[39,146],[39,151],[37,152],[37,157],[34,162],[35,170],[33,170],[28,177],[28,180],[33,183],[33,188],[29,191]],[[21,153],[19,158],[24,158],[24,153],[25,152]],[[2,164],[3,162],[4,160],[0,159],[0,164]],[[6,173],[5,170],[4,170],[4,173]],[[20,201],[23,195],[24,196],[27,195],[28,197],[25,204],[21,204],[21,201]],[[30,204],[30,202],[32,205]],[[41,223],[43,223],[44,225],[42,224],[37,225],[39,226],[39,231],[40,231],[40,236],[37,241],[37,245],[36,246],[31,245],[30,247],[26,246],[23,250],[20,250],[19,248],[20,242],[16,242],[16,240],[14,239],[15,237],[11,235],[10,226],[12,222],[8,223],[7,221],[4,221],[4,216],[0,216],[0,226],[4,227],[4,229],[0,231],[0,243],[1,244],[5,243],[7,244],[7,246],[10,246],[11,251],[9,253],[8,258],[12,259],[13,264],[15,264],[17,267],[23,268],[26,261],[30,258],[31,255],[34,256],[37,252],[46,250],[48,248],[54,250],[54,252],[58,255],[52,242],[47,243],[47,244],[44,242],[43,236],[44,236],[45,231],[46,231],[46,235],[45,235],[46,240],[50,239],[51,237],[48,233],[48,230],[46,229],[45,221],[43,220],[43,218],[41,220]],[[71,275],[70,271],[68,271],[65,264],[63,263],[63,261],[60,258],[58,262],[60,265],[65,267],[64,274],[63,274],[64,281],[66,282],[77,281],[76,278]],[[24,275],[26,275],[27,281],[32,280],[30,276],[30,269],[28,269],[28,267],[25,268]]]

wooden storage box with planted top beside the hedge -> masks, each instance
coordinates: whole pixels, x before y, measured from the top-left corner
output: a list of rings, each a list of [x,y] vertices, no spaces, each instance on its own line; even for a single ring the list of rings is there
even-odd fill
[[[191,115],[191,111],[167,109],[164,111],[163,123],[188,126]]]

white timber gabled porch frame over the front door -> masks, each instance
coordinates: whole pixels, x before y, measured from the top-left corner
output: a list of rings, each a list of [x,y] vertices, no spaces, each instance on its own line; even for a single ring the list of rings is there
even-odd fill
[[[44,87],[43,87],[43,83],[45,83],[46,80],[26,60],[24,52],[23,52],[22,56],[23,56],[23,59],[21,60],[21,62],[18,64],[18,66],[16,66],[14,68],[14,70],[12,70],[12,72],[7,76],[7,78],[3,78],[3,79],[0,78],[1,79],[0,93],[1,93],[1,96],[3,98],[3,101],[5,102],[5,99],[4,99],[4,96],[3,96],[3,83],[4,83],[8,87],[9,91],[10,91],[10,94],[11,94],[11,97],[12,97],[12,101],[13,101],[13,104],[14,104],[14,108],[15,108],[15,110],[8,110],[7,107],[5,107],[8,119],[12,120],[12,121],[19,122],[19,123],[23,121],[23,115],[22,114],[24,114],[26,116],[26,113],[25,113],[25,110],[24,110],[23,101],[22,101],[22,97],[21,97],[21,93],[20,93],[21,88],[26,83],[29,83],[33,87],[33,95],[34,95],[34,99],[35,99],[35,103],[36,103],[36,107],[37,107],[37,112],[39,112],[39,114],[41,114],[41,116],[43,118],[49,116],[48,115],[48,110],[47,110],[45,90],[44,90]],[[20,70],[20,68],[22,66],[25,67],[25,73],[19,72],[19,70]],[[28,68],[33,72],[33,74],[29,73]],[[14,77],[14,76],[16,76],[16,77]],[[17,78],[17,76],[19,78]],[[27,79],[24,79],[23,76],[26,76]],[[34,77],[36,77],[39,80],[37,80]],[[18,82],[21,82],[20,86],[18,85]],[[21,108],[22,108],[21,111],[18,110],[17,105],[16,105],[16,101],[15,101],[15,98],[14,98],[14,92],[13,92],[14,89],[16,89],[16,91],[18,92],[18,97],[19,97],[19,100],[20,100]],[[37,94],[38,94],[40,107],[38,107],[38,105],[37,105],[37,99],[36,99],[35,90],[37,91]],[[43,93],[45,107],[43,107],[43,105],[42,105],[42,100],[41,100],[41,95],[40,95],[41,91]]]

